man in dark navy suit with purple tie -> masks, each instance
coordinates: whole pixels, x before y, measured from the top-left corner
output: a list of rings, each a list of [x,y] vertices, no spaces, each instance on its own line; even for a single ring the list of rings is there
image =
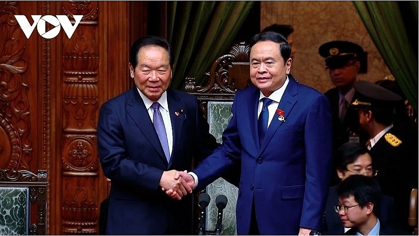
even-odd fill
[[[169,89],[173,57],[160,37],[137,40],[130,51],[132,89],[105,102],[98,149],[111,180],[107,235],[191,235],[191,188],[174,179],[192,160],[218,146],[195,96]],[[116,78],[117,79],[117,78]],[[173,189],[168,197],[162,189]]]

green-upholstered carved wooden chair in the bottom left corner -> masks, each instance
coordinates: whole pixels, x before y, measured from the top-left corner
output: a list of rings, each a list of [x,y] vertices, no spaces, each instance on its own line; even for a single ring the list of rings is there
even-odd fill
[[[47,234],[47,186],[46,170],[0,169],[0,235]]]

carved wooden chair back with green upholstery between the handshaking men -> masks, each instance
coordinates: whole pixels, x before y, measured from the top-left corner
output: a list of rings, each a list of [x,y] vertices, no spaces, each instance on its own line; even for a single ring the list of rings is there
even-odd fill
[[[245,42],[235,44],[230,51],[219,57],[206,73],[209,81],[204,86],[195,86],[194,78],[186,78],[185,91],[197,96],[200,107],[210,124],[210,133],[221,143],[221,135],[232,117],[231,105],[235,92],[250,84],[249,46]],[[223,178],[207,186],[210,197],[207,207],[207,230],[214,230],[217,221],[215,198],[222,194],[228,199],[223,211],[221,235],[237,235],[236,202],[238,188]],[[196,197],[197,198],[197,197]],[[195,214],[199,215],[199,214]]]

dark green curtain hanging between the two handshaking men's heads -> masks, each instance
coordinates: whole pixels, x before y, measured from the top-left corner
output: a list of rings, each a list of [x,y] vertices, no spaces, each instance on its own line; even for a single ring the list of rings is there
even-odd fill
[[[231,46],[254,1],[167,3],[167,40],[174,54],[170,87],[183,89],[186,77],[202,84],[211,64]]]

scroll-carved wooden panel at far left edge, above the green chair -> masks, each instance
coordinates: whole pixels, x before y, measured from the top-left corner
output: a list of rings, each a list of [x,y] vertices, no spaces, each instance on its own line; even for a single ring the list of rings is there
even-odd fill
[[[0,167],[28,169],[32,157],[29,138],[29,85],[22,74],[28,62],[22,58],[26,37],[14,15],[20,14],[16,1],[0,2]]]

